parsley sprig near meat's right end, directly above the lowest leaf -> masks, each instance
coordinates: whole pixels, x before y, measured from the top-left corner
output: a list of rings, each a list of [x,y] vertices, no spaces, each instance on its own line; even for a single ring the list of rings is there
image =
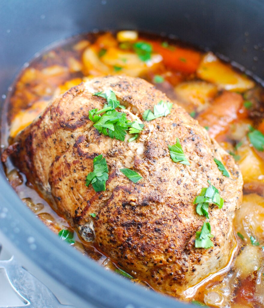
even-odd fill
[[[209,218],[209,203],[217,205],[219,209],[222,209],[224,205],[224,200],[220,197],[218,189],[211,185],[210,181],[208,183],[210,186],[202,188],[200,195],[194,199],[194,204],[197,204],[196,212],[199,215],[204,215],[207,219]]]

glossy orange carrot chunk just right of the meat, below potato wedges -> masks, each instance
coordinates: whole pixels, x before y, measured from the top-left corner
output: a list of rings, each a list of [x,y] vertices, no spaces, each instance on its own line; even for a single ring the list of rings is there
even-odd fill
[[[245,117],[244,111],[242,95],[224,91],[196,120],[200,125],[208,127],[210,137],[215,138],[226,133],[232,122]]]

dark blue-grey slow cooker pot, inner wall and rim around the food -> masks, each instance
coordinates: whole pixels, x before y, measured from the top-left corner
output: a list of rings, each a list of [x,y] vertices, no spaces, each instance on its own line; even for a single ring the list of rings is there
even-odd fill
[[[262,0],[2,0],[1,112],[15,75],[36,52],[55,41],[95,29],[138,29],[174,35],[224,55],[264,79],[263,16]],[[60,241],[23,205],[2,169],[0,242],[75,307],[186,306],[106,272]]]

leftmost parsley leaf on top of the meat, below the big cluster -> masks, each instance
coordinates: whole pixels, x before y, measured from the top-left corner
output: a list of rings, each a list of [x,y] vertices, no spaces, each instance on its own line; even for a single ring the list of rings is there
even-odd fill
[[[102,154],[94,157],[94,171],[86,176],[86,186],[91,183],[96,192],[106,190],[106,181],[108,180],[108,168],[106,159]]]

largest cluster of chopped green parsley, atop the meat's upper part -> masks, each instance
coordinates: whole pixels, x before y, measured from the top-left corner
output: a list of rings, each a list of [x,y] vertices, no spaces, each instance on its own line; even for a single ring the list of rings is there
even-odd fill
[[[125,106],[120,105],[112,90],[94,93],[94,95],[103,97],[107,101],[103,109],[92,109],[89,111],[89,119],[94,122],[94,127],[98,132],[112,139],[124,141],[127,130],[129,130],[130,134],[135,134],[129,141],[136,140],[144,124],[139,124],[137,121],[132,123],[130,120],[127,120],[126,113],[115,110],[115,108],[125,109]]]

